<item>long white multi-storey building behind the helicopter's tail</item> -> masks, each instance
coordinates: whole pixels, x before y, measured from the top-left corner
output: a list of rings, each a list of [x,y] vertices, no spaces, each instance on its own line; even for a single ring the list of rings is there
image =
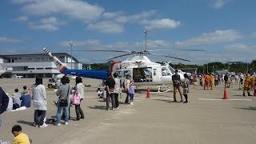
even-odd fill
[[[54,53],[68,69],[82,70],[82,63],[70,54]],[[72,61],[71,61],[72,58]],[[22,76],[23,78],[51,78],[60,74],[54,59],[48,54],[13,54],[0,55],[0,66],[6,69],[6,73],[1,76],[10,78],[12,75]]]

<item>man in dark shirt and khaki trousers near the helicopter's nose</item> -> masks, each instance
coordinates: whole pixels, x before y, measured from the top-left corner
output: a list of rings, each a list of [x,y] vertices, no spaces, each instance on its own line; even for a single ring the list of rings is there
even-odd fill
[[[174,84],[174,102],[177,102],[176,89],[178,89],[178,92],[181,96],[181,102],[183,102],[182,90],[181,90],[181,77],[178,75],[178,70],[175,70],[175,74],[172,76],[172,80],[173,80],[173,84]]]

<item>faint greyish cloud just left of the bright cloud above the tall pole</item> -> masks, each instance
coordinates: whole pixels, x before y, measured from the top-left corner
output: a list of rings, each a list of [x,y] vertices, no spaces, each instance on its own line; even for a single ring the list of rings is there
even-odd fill
[[[87,29],[97,30],[105,34],[120,34],[124,31],[124,27],[122,24],[110,21],[92,23],[87,26]]]

